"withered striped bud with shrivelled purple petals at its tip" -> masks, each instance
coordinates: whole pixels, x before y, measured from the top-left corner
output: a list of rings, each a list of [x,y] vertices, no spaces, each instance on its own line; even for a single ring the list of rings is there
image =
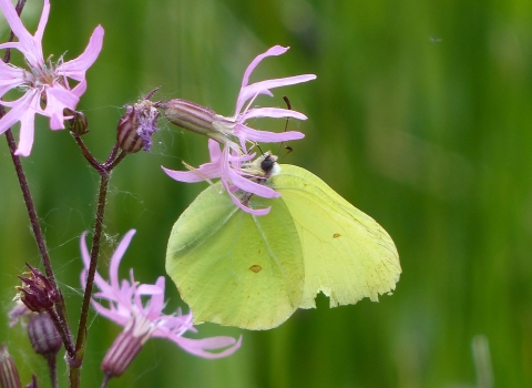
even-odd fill
[[[157,88],[158,89],[158,88]],[[119,121],[116,142],[122,151],[135,153],[141,150],[150,152],[152,134],[157,131],[157,108],[161,101],[153,102],[151,96],[157,91],[154,89],[143,100],[134,105],[125,105],[126,112]]]

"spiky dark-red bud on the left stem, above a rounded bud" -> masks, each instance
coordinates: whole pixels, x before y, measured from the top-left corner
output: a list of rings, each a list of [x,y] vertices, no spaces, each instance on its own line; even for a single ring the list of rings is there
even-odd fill
[[[48,278],[35,267],[28,263],[25,265],[30,268],[30,277],[19,276],[22,280],[22,286],[19,289],[18,298],[32,312],[41,313],[53,308],[55,304],[55,289],[53,289]]]

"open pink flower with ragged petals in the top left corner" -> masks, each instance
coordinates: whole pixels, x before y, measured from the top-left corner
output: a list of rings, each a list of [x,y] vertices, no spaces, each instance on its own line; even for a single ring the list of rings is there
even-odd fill
[[[31,35],[17,14],[11,0],[0,0],[0,9],[19,39],[18,42],[0,44],[0,49],[17,49],[25,58],[29,70],[20,69],[0,61],[0,99],[11,89],[20,88],[24,95],[16,101],[2,101],[0,104],[11,108],[0,119],[0,134],[20,122],[20,139],[17,155],[28,156],[33,144],[34,116],[50,118],[50,129],[64,129],[64,109],[75,110],[80,96],[86,90],[85,72],[94,63],[103,42],[103,28],[98,25],[92,33],[85,51],[76,59],[57,63],[47,63],[42,54],[42,35],[50,13],[50,1],[44,0],[41,19],[35,34]],[[71,89],[68,79],[78,81]],[[45,101],[45,108],[41,103]]]

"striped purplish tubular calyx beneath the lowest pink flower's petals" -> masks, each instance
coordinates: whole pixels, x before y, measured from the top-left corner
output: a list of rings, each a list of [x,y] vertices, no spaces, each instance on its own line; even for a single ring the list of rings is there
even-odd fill
[[[152,331],[153,327],[146,317],[133,317],[103,358],[102,370],[105,376],[108,378],[121,376],[141,351]]]

